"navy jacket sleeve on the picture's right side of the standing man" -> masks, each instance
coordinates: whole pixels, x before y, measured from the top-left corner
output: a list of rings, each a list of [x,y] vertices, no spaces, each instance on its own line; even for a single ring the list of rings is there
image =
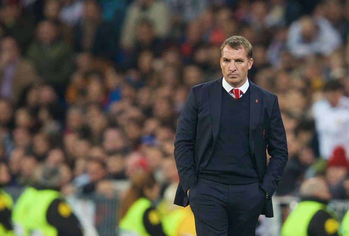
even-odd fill
[[[286,132],[281,118],[277,96],[275,96],[274,108],[270,118],[267,150],[270,160],[263,177],[262,187],[271,197],[279,185],[288,159]]]

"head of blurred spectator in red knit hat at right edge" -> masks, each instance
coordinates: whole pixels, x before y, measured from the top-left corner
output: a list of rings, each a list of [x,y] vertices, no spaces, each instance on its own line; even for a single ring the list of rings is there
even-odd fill
[[[325,178],[333,198],[344,198],[343,181],[349,173],[349,161],[342,146],[337,146],[326,165]]]

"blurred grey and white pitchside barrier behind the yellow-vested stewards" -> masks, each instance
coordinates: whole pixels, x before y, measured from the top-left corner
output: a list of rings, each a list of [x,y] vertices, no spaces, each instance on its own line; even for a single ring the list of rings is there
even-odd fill
[[[72,206],[74,213],[79,218],[84,228],[85,236],[118,236],[118,208],[120,193],[127,189],[129,183],[116,181],[113,197],[102,195],[72,195],[66,198]],[[21,195],[24,188],[6,187],[14,201]],[[261,216],[260,224],[256,229],[259,236],[279,236],[282,222],[287,215],[297,206],[299,198],[293,196],[273,196],[274,218]],[[332,200],[328,204],[338,221],[341,221],[349,209],[349,200]]]

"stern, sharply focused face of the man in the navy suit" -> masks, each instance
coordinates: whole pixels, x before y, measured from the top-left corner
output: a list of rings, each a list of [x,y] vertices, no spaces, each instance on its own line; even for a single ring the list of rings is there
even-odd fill
[[[247,71],[252,67],[253,58],[247,57],[244,48],[233,49],[227,45],[222,50],[220,63],[225,80],[238,88],[246,82]]]

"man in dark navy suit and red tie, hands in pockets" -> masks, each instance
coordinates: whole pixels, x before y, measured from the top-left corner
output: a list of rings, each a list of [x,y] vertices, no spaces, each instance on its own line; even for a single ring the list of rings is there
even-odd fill
[[[250,42],[225,40],[220,64],[223,78],[192,87],[179,117],[174,204],[191,205],[198,236],[250,236],[260,214],[273,217],[270,198],[287,163],[286,134],[277,96],[247,78]]]

